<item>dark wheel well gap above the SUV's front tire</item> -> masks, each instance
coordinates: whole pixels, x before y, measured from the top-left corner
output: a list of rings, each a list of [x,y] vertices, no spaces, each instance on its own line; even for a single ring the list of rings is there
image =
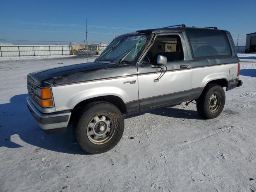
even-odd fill
[[[90,98],[90,99],[81,101],[80,103],[76,104],[76,106],[74,107],[73,111],[74,112],[79,112],[80,110],[82,110],[84,108],[84,106],[86,106],[88,103],[93,102],[93,101],[106,101],[106,102],[112,103],[123,114],[126,113],[126,106],[125,106],[123,100],[120,97],[114,96],[114,95],[94,97],[94,98]]]

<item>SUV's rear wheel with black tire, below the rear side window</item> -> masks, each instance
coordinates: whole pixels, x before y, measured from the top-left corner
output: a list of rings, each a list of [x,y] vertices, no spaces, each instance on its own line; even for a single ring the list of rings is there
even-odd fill
[[[204,88],[201,96],[196,99],[196,109],[205,119],[213,119],[220,115],[225,105],[225,92],[216,84],[209,84]]]

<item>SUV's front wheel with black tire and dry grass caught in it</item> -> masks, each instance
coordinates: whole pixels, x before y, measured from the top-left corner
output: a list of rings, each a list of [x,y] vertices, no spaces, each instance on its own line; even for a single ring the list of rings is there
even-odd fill
[[[110,131],[106,132],[107,129]],[[82,111],[77,126],[74,127],[76,141],[82,150],[90,154],[100,154],[112,149],[122,138],[123,132],[122,113],[116,106],[104,101],[89,103]],[[98,136],[100,134],[103,134],[104,138]]]

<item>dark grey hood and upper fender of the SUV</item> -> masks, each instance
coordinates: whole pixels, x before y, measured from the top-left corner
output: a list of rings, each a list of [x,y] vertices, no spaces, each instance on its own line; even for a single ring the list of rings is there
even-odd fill
[[[27,78],[39,86],[58,86],[137,74],[135,64],[82,63],[33,72]]]

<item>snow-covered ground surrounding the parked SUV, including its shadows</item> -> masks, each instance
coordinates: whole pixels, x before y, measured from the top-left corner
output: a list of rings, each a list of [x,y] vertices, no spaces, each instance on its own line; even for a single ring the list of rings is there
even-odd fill
[[[256,54],[239,56],[244,84],[226,92],[218,118],[184,103],[128,116],[119,144],[98,155],[70,129],[44,134],[25,101],[29,72],[86,57],[0,60],[0,191],[256,191]]]

